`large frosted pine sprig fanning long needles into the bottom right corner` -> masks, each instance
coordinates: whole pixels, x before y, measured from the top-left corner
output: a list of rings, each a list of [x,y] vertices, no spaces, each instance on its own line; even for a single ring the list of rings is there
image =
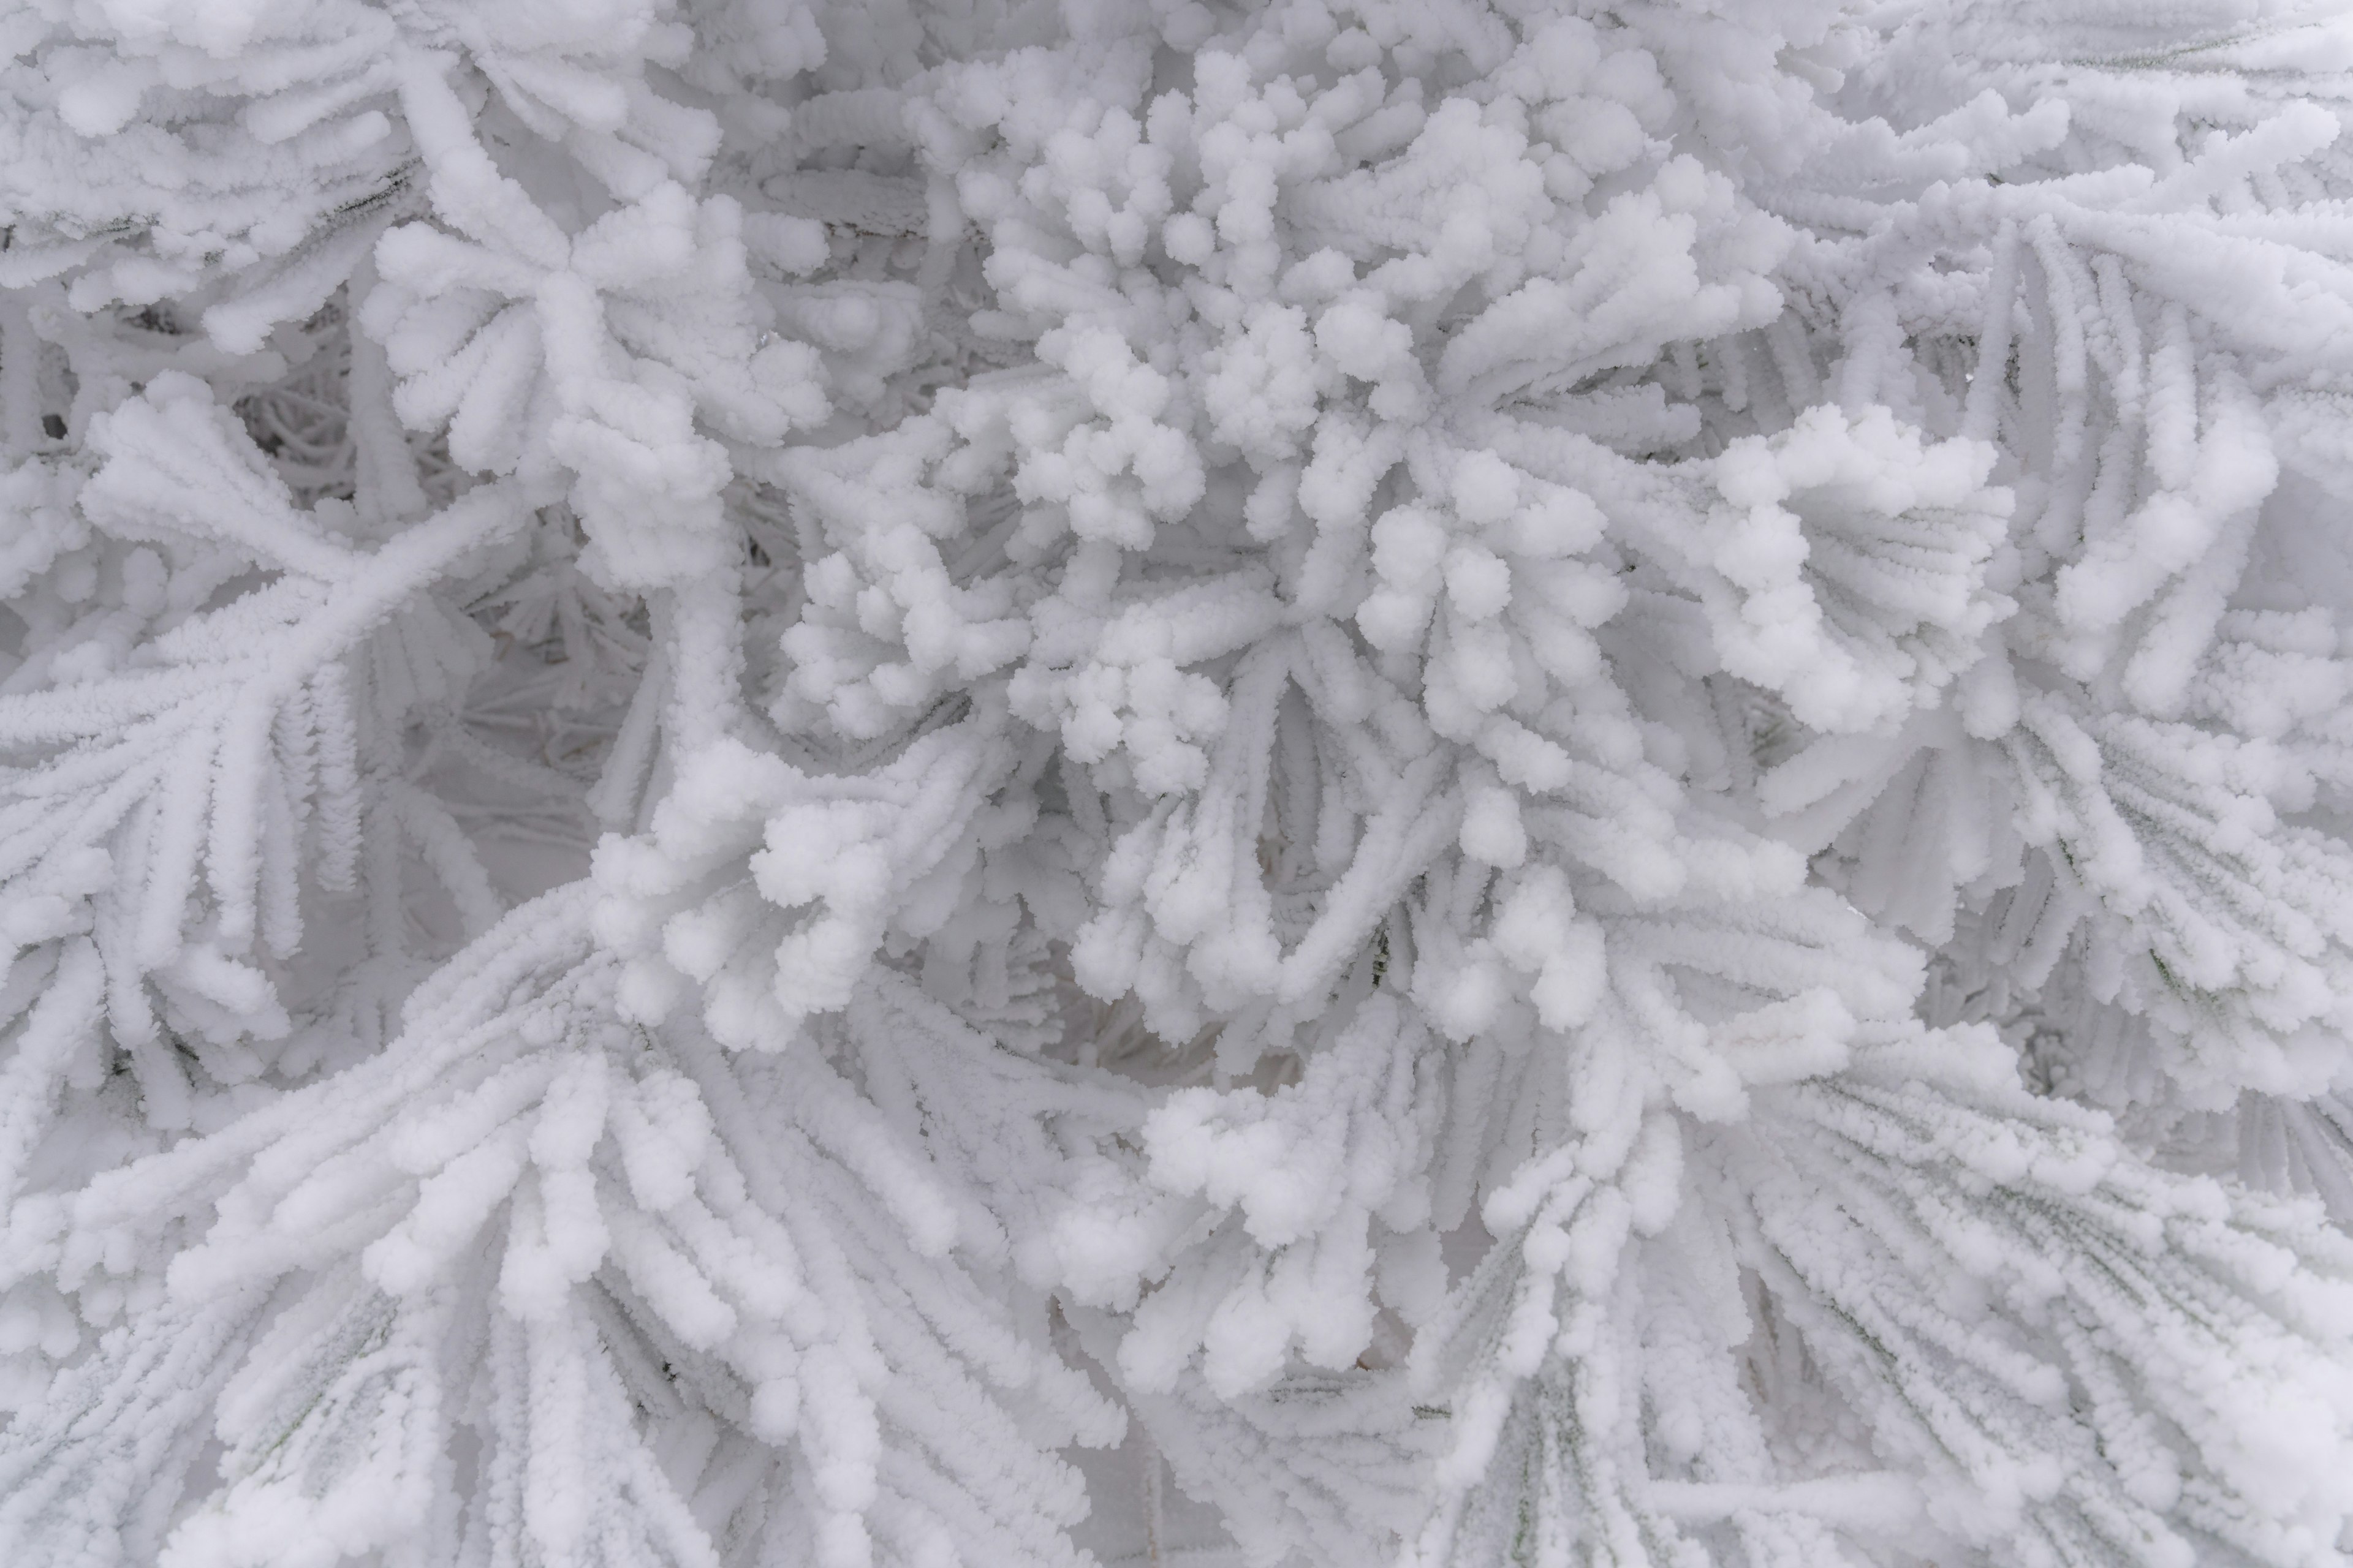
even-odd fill
[[[1534,1530],[1619,1561],[1734,1542],[1774,1561],[1835,1549],[1835,1528],[2049,1563],[2329,1561],[2353,1392],[2332,1349],[2353,1326],[2341,1237],[2158,1175],[2007,1074],[1988,1034],[1866,1032],[1840,1077],[1701,1133],[1689,1157],[1718,1175],[1666,1222],[1633,1168],[1501,1187],[1487,1222],[1518,1239],[1419,1368],[1438,1387],[1494,1371],[1457,1387],[1457,1502],[1417,1552],[1487,1561]],[[2235,1361],[2249,1342],[2278,1347],[2275,1371]],[[1868,1441],[1826,1476],[1868,1474],[1777,1474],[1777,1401],[1847,1406]]]

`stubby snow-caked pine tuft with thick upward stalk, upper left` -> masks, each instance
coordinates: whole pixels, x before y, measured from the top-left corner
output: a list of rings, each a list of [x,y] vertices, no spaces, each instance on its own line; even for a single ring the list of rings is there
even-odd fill
[[[402,226],[379,247],[388,287],[365,310],[400,376],[402,421],[447,423],[449,454],[471,470],[569,477],[598,562],[621,583],[727,564],[729,465],[696,416],[769,444],[828,411],[814,350],[765,331],[741,209],[696,205],[661,179],[567,235],[496,172],[431,63],[405,87],[412,120],[435,132],[435,207],[464,237]]]

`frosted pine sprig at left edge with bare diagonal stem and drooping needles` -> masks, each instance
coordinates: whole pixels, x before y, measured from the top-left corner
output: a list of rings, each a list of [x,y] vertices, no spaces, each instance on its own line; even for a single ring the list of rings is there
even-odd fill
[[[322,889],[358,879],[353,663],[379,689],[376,724],[447,701],[478,654],[421,590],[520,527],[527,503],[482,489],[358,550],[292,505],[186,376],[158,378],[92,444],[106,463],[80,491],[82,515],[139,548],[120,564],[120,609],[45,649],[45,689],[5,698],[0,736],[19,757],[14,940],[87,931],[125,1044],[155,1039],[153,976],[179,1027],[238,1051],[249,1032],[287,1032],[256,957],[301,945],[306,858]],[[256,569],[273,574],[266,585],[202,609]],[[426,797],[400,799],[461,907],[487,924],[496,905],[464,837]],[[99,865],[108,875],[92,884]]]

